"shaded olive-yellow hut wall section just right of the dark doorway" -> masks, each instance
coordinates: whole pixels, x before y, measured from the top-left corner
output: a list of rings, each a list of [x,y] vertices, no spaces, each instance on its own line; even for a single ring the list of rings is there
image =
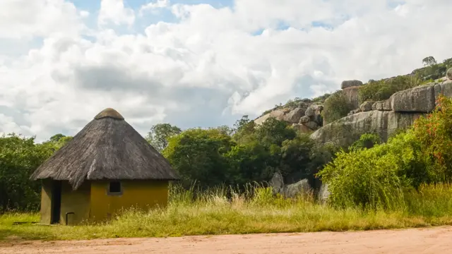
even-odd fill
[[[76,191],[68,181],[61,186],[61,213],[60,222],[66,225],[66,212],[68,214],[68,225],[76,225],[90,219],[90,182],[85,181]]]

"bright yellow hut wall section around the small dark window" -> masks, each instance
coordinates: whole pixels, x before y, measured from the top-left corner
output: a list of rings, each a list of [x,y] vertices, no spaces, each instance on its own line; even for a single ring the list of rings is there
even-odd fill
[[[123,208],[149,210],[167,205],[168,181],[121,181],[121,195],[109,195],[108,190],[109,181],[93,181],[91,219],[109,219]]]

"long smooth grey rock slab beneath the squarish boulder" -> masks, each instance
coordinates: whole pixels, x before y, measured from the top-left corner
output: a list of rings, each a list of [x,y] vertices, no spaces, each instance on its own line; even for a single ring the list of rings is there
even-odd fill
[[[383,141],[400,128],[408,128],[422,113],[395,111],[367,111],[345,116],[328,123],[311,134],[319,143],[336,143],[341,147],[352,145],[364,133],[378,133]]]

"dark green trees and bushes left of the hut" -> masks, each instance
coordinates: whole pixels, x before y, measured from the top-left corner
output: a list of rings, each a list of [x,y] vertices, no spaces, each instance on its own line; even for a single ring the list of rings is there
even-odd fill
[[[0,212],[39,207],[40,183],[29,178],[53,151],[52,145],[35,144],[35,138],[0,136]]]

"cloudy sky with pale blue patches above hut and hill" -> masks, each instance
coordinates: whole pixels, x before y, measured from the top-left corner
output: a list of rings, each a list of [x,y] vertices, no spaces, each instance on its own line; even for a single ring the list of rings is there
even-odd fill
[[[1,0],[0,133],[75,135],[107,107],[145,135],[452,57],[451,0]]]

